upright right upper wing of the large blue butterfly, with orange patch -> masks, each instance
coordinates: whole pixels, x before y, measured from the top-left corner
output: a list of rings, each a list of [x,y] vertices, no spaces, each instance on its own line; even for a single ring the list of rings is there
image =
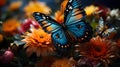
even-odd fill
[[[83,20],[85,18],[85,11],[81,8],[77,0],[71,0],[66,6],[64,15],[64,23],[66,25],[71,25]]]

